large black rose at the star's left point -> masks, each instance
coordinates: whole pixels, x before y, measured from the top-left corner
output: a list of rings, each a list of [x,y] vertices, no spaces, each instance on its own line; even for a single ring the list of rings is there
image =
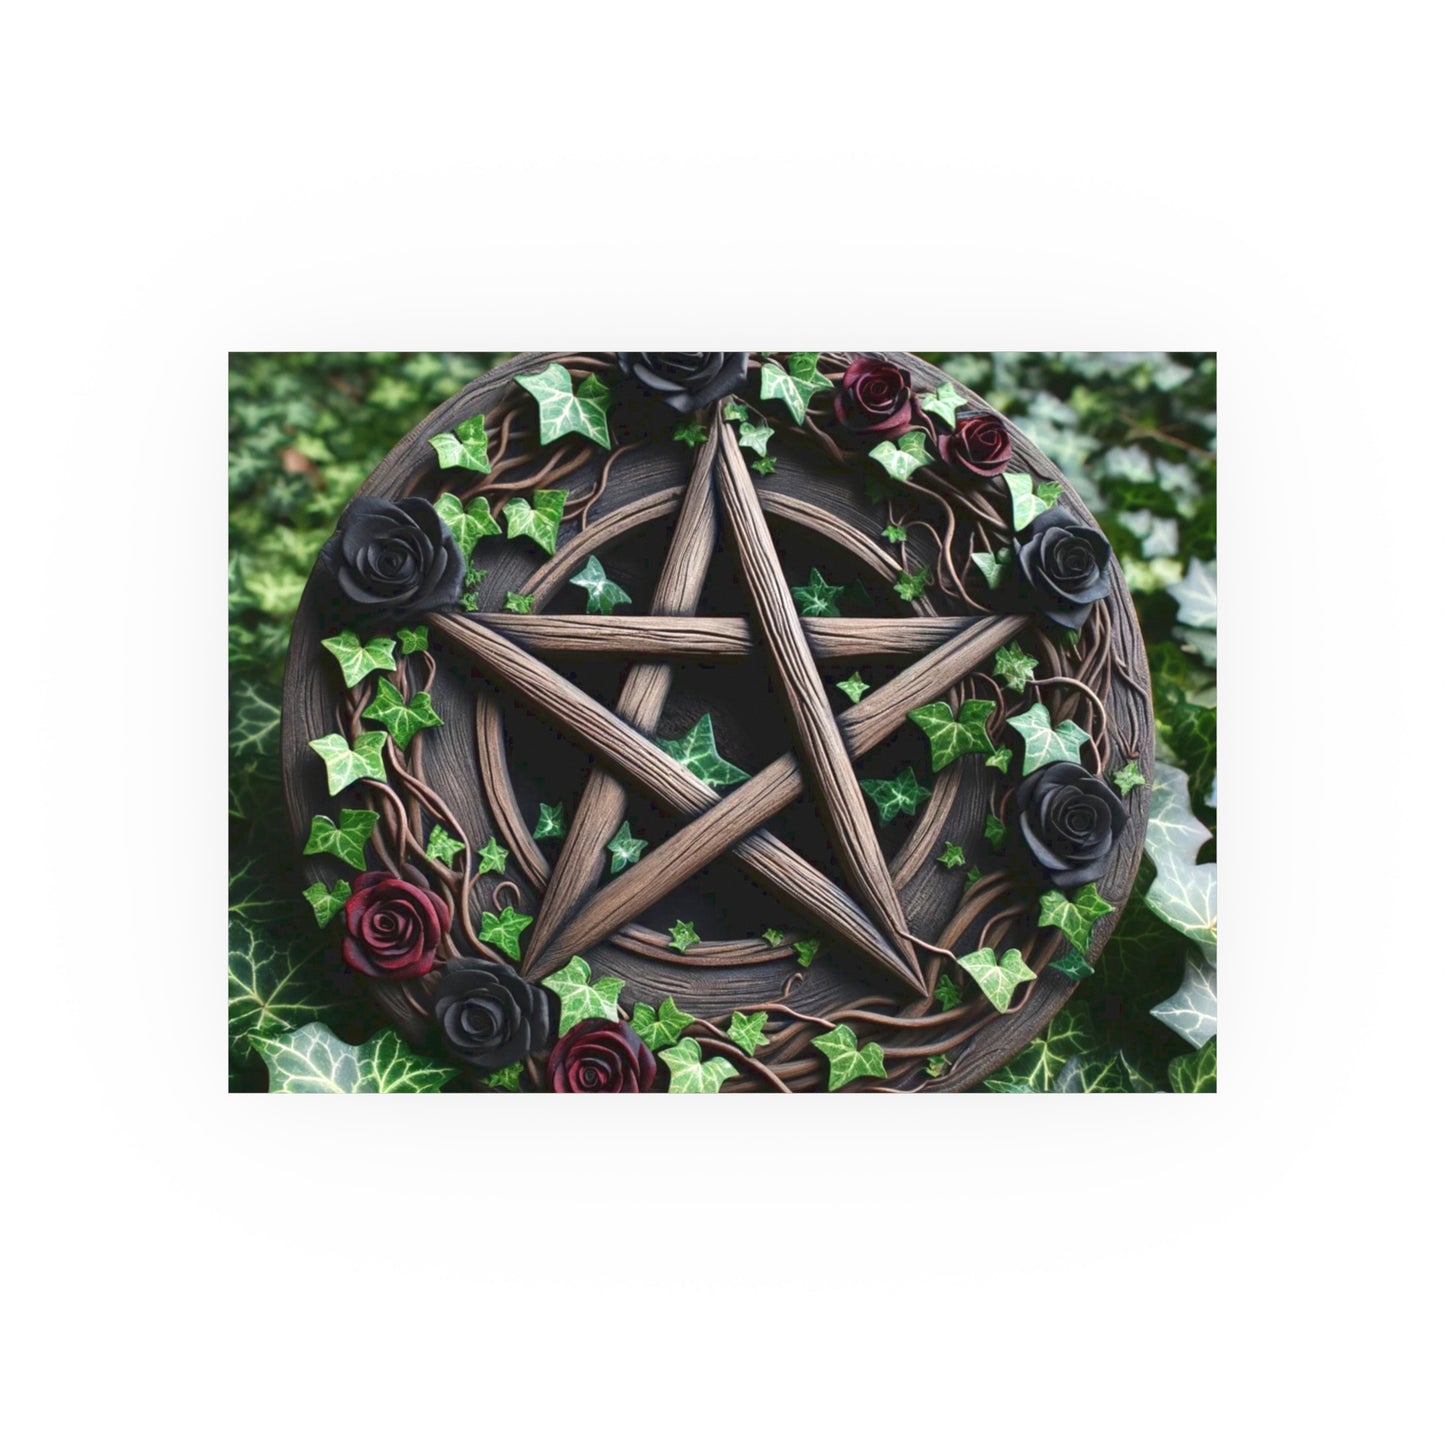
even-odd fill
[[[451,607],[467,572],[451,527],[422,497],[358,497],[322,546],[321,564],[348,601],[396,613]]]

